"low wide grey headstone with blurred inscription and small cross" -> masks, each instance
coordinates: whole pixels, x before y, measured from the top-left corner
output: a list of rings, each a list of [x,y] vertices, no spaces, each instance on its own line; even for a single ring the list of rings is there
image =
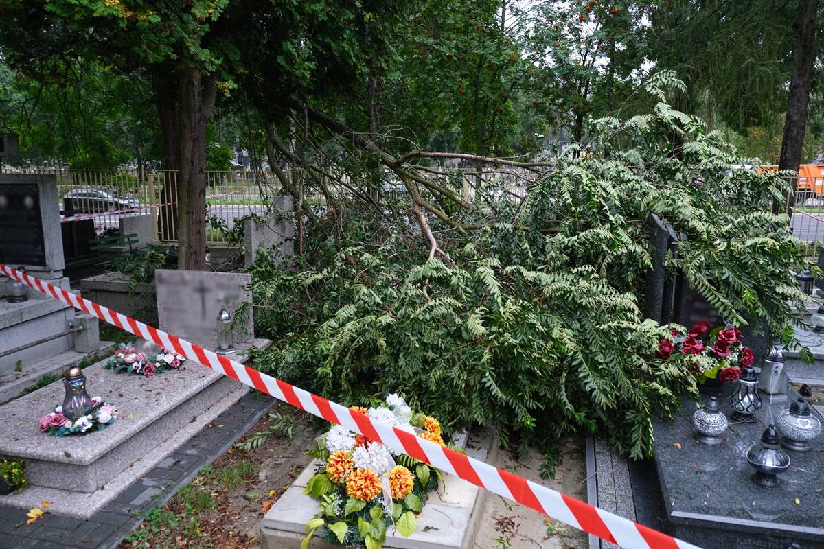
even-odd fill
[[[237,344],[254,339],[252,277],[241,272],[155,271],[157,321],[160,328],[204,347],[218,345],[218,313],[227,309],[239,318],[232,330]]]

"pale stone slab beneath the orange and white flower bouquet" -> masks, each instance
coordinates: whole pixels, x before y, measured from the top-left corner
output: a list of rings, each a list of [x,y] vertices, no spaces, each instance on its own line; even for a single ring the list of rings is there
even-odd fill
[[[489,430],[463,439],[466,453],[484,460],[493,436]],[[304,495],[307,482],[321,463],[313,459],[265,514],[260,524],[260,542],[265,549],[298,549],[306,535],[306,523],[317,514],[317,501]],[[475,521],[480,514],[485,491],[478,486],[444,473],[438,492],[431,492],[424,511],[418,516],[418,528],[403,537],[394,527],[386,531],[383,547],[391,549],[469,549],[475,540]],[[333,546],[316,534],[310,543],[314,549]]]

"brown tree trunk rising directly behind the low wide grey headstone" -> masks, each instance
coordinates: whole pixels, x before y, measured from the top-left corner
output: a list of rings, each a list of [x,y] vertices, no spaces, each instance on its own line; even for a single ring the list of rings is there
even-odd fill
[[[206,127],[217,88],[203,72],[181,63],[178,99],[177,267],[206,267]]]

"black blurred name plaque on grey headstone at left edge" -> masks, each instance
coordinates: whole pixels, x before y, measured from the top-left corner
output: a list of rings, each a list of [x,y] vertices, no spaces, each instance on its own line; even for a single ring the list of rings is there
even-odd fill
[[[45,265],[37,185],[0,184],[0,263]]]

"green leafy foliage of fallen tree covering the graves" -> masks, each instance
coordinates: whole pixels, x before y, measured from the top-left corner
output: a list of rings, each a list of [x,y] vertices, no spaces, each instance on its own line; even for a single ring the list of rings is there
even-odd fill
[[[650,216],[686,235],[667,267],[739,326],[783,332],[807,253],[771,213],[783,180],[730,170],[742,159],[721,133],[660,101],[680,86],[653,78],[650,114],[599,120],[599,153],[559,157],[526,202],[485,197],[497,216],[466,214],[466,234],[434,220],[448,259],[420,263],[408,218],[357,209],[312,227],[301,268],[261,258],[256,333],[280,343],[256,365],[337,402],[396,391],[447,426],[491,421],[503,444],[550,453],[546,474],[582,429],[649,456],[653,416],[695,390],[649,361],[666,333],[641,312]]]

